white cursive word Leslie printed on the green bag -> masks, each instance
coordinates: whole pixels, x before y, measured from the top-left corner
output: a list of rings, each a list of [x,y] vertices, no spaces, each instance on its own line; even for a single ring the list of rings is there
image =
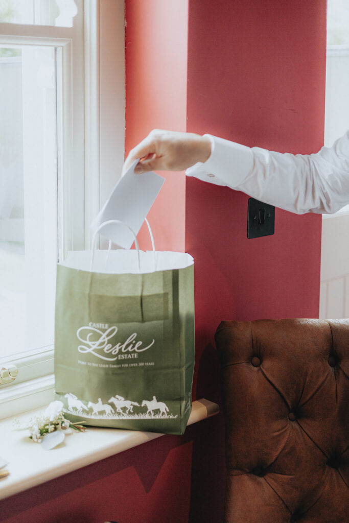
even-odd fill
[[[89,326],[80,327],[76,332],[76,336],[85,345],[79,345],[77,350],[82,354],[93,354],[100,359],[115,361],[120,359],[119,353],[142,353],[144,350],[148,350],[152,345],[154,345],[155,342],[153,339],[150,345],[141,348],[143,342],[136,341],[137,333],[134,332],[127,338],[126,342],[119,342],[113,346],[108,342],[117,332],[118,327],[116,326],[109,327],[105,332],[96,327],[92,327],[91,323]],[[96,336],[98,336],[98,339],[96,339]],[[108,354],[109,356],[103,356],[103,354],[100,354],[101,352]],[[115,357],[113,358],[113,356]]]

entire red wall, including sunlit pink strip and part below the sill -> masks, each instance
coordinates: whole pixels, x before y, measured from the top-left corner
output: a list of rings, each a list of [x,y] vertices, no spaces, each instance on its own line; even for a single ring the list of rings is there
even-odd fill
[[[325,0],[126,0],[126,19],[127,152],[152,128],[321,146]],[[166,178],[150,219],[157,248],[195,257],[193,393],[215,401],[220,320],[318,315],[321,218],[277,209],[274,236],[247,240],[246,195]],[[0,521],[218,522],[223,445],[216,416],[9,498]]]

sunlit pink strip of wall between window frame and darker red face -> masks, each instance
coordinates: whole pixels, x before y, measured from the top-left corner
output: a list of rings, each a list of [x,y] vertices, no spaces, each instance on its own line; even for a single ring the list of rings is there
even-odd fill
[[[152,129],[186,130],[188,0],[126,1],[126,143]],[[166,178],[149,213],[158,249],[185,251],[185,175]],[[151,248],[147,228],[141,248]]]

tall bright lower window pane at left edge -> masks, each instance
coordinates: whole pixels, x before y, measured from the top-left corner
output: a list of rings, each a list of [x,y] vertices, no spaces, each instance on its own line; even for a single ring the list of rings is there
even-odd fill
[[[0,48],[0,357],[53,343],[55,49]]]

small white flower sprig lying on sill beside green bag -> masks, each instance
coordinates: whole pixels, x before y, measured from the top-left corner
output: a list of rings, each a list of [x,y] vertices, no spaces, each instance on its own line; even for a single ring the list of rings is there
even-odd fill
[[[21,425],[19,420],[15,418],[14,429],[29,430],[29,438],[41,443],[44,436],[56,430],[63,430],[66,433],[69,432],[69,429],[84,432],[86,427],[81,425],[82,423],[86,422],[72,423],[69,419],[66,419],[63,414],[63,403],[61,401],[53,401],[41,416],[32,417],[25,426]]]

